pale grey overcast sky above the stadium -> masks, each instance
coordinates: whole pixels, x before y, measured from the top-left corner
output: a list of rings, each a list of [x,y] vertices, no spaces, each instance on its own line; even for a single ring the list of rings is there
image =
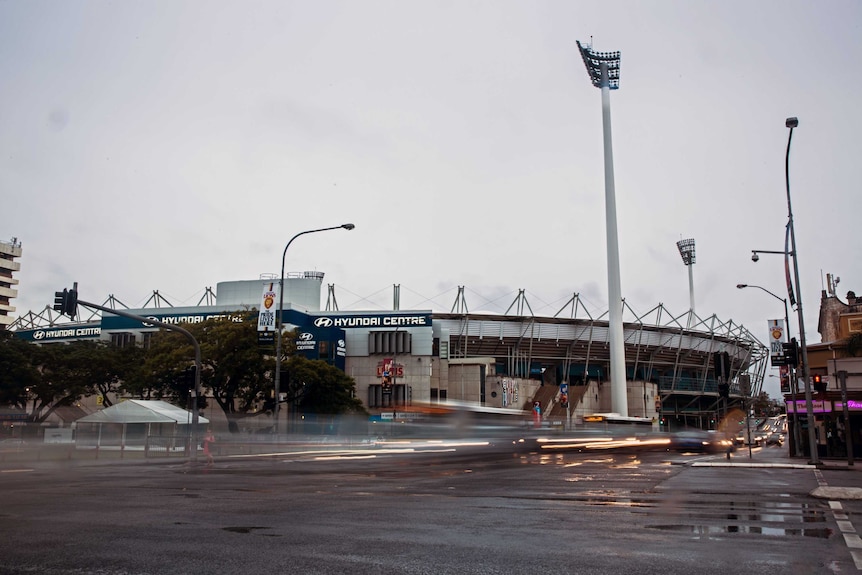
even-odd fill
[[[805,324],[862,291],[862,4],[0,0],[0,239],[17,315],[79,284],[141,307],[324,272],[338,307],[607,310],[601,92],[622,294],[767,341],[784,315],[790,152]],[[757,289],[736,284],[759,285]],[[562,315],[567,315],[563,312]],[[579,312],[584,317],[584,312]],[[654,317],[651,316],[651,317]],[[624,319],[631,318],[629,312]],[[798,330],[791,310],[792,333]],[[777,395],[777,379],[765,388]]]

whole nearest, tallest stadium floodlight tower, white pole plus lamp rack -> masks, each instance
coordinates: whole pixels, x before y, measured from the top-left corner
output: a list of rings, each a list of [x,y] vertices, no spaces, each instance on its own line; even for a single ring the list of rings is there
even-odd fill
[[[623,296],[620,286],[620,247],[617,200],[614,191],[614,153],[611,144],[611,90],[620,87],[620,53],[596,52],[592,44],[578,42],[590,81],[602,90],[602,126],[605,144],[605,219],[608,249],[608,339],[611,356],[611,409],[628,417],[626,355],[623,335]]]

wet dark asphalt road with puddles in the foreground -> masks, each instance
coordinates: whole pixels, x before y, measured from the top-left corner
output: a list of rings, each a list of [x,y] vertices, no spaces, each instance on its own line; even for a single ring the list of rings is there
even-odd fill
[[[781,448],[757,453],[779,457]],[[743,455],[737,458],[744,459]],[[860,573],[820,484],[667,452],[0,465],[0,573]],[[862,501],[844,501],[862,526]]]

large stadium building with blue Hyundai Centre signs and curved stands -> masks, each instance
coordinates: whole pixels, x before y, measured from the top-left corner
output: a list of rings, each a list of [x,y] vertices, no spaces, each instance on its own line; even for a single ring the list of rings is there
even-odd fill
[[[339,310],[334,286],[326,304],[322,272],[284,277],[282,324],[298,329],[297,353],[325,360],[350,375],[357,396],[377,419],[406,416],[413,404],[470,402],[492,408],[538,407],[545,421],[569,426],[586,415],[612,411],[608,312],[590,314],[578,294],[553,315],[534,314],[524,290],[504,313],[471,312],[458,287],[448,312],[398,309]],[[247,321],[236,312],[262,308],[278,277],[226,281],[206,288],[197,305],[174,307],[158,291],[139,309],[113,296],[101,307],[168,324],[206,319]],[[666,426],[715,428],[726,410],[759,394],[769,349],[744,327],[659,304],[645,313],[623,301],[625,391],[628,416]],[[10,328],[39,344],[100,339],[146,345],[159,328],[81,306],[70,322],[50,306],[28,312]],[[716,357],[729,363],[716,371]],[[723,375],[729,389],[720,393]],[[723,397],[723,395],[726,397]]]

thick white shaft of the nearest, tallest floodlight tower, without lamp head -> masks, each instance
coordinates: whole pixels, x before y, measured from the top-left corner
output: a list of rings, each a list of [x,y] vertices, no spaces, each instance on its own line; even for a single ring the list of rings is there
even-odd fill
[[[601,64],[602,127],[605,145],[605,217],[608,242],[608,335],[611,354],[611,409],[628,417],[626,393],[626,356],[623,336],[622,288],[620,286],[620,250],[617,234],[617,203],[614,191],[614,155],[611,144],[611,97],[608,65]]]

